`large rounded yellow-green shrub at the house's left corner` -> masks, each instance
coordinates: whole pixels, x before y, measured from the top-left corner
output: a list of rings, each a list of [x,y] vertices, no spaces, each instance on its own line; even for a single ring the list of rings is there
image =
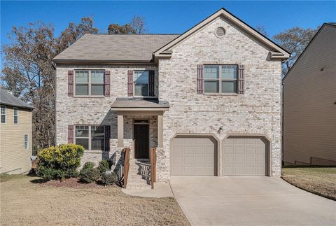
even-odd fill
[[[73,143],[45,148],[38,152],[36,174],[45,180],[64,179],[78,176],[83,146]]]

